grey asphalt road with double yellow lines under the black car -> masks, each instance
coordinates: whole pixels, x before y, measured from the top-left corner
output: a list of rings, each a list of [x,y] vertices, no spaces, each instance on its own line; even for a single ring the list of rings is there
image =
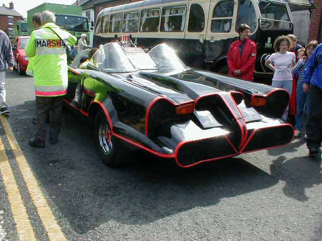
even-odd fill
[[[321,160],[307,157],[305,141],[190,169],[141,152],[113,169],[92,124],[70,110],[58,144],[29,147],[33,78],[8,75],[0,241],[322,240]]]

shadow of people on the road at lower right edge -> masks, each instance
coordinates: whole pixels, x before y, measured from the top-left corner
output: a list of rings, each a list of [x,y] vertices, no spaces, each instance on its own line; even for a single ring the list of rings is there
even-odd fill
[[[321,157],[295,157],[287,159],[280,156],[270,166],[271,174],[285,181],[283,192],[286,196],[306,201],[305,188],[322,182]]]

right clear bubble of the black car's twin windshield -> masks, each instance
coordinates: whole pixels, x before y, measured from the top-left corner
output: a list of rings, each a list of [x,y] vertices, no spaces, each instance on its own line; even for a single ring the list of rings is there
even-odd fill
[[[177,70],[188,68],[167,44],[155,46],[148,54],[158,68]]]

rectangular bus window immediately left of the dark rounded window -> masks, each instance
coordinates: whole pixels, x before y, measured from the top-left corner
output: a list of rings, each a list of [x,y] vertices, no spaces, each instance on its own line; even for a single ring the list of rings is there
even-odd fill
[[[162,9],[162,32],[183,32],[186,22],[186,6],[168,7]]]

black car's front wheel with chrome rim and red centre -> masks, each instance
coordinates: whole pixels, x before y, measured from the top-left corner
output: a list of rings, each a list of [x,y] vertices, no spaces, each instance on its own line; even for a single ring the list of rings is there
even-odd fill
[[[95,136],[99,154],[106,165],[119,167],[125,164],[124,148],[121,148],[120,141],[113,136],[103,111],[96,115]]]

